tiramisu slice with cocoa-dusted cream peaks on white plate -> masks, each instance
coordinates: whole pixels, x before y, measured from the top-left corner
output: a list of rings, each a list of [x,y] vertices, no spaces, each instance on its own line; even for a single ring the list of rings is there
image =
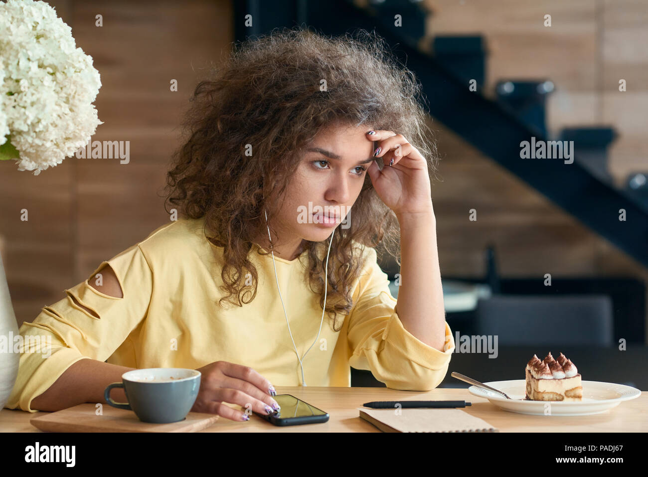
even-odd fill
[[[544,360],[533,355],[526,366],[526,399],[531,401],[582,401],[581,375],[562,353]]]

